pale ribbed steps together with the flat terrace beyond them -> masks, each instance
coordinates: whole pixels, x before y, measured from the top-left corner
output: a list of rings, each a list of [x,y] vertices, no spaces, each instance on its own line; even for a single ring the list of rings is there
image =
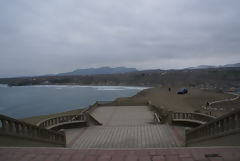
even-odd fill
[[[164,148],[184,145],[184,128],[153,124],[148,106],[98,107],[92,113],[103,126],[65,130],[67,147]]]

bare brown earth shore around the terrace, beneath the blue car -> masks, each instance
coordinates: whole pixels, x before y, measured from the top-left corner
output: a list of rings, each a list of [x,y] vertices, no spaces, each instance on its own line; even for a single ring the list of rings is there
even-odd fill
[[[215,100],[230,99],[232,95],[226,93],[219,93],[215,90],[201,90],[199,88],[190,87],[189,93],[186,95],[178,95],[179,87],[172,87],[171,92],[167,87],[153,87],[144,89],[131,97],[121,97],[115,99],[112,105],[126,105],[126,104],[141,104],[146,101],[151,101],[154,106],[162,110],[171,110],[177,112],[194,112],[200,110],[206,102],[213,102]],[[111,105],[110,104],[110,105]],[[21,119],[22,121],[36,124],[37,122],[61,115],[77,114],[82,110],[76,109],[56,114],[41,115]]]

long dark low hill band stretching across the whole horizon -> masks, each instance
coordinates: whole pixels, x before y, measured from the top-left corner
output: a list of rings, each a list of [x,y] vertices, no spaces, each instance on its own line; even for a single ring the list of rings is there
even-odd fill
[[[0,79],[0,84],[23,85],[122,85],[193,86],[200,88],[240,88],[240,68],[147,70],[117,74],[40,76]]]

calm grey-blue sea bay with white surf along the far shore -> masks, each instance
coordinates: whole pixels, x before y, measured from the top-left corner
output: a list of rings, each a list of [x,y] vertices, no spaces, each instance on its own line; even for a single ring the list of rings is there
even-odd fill
[[[88,107],[96,101],[129,97],[148,87],[78,85],[0,85],[0,114],[13,118],[47,115]]]

